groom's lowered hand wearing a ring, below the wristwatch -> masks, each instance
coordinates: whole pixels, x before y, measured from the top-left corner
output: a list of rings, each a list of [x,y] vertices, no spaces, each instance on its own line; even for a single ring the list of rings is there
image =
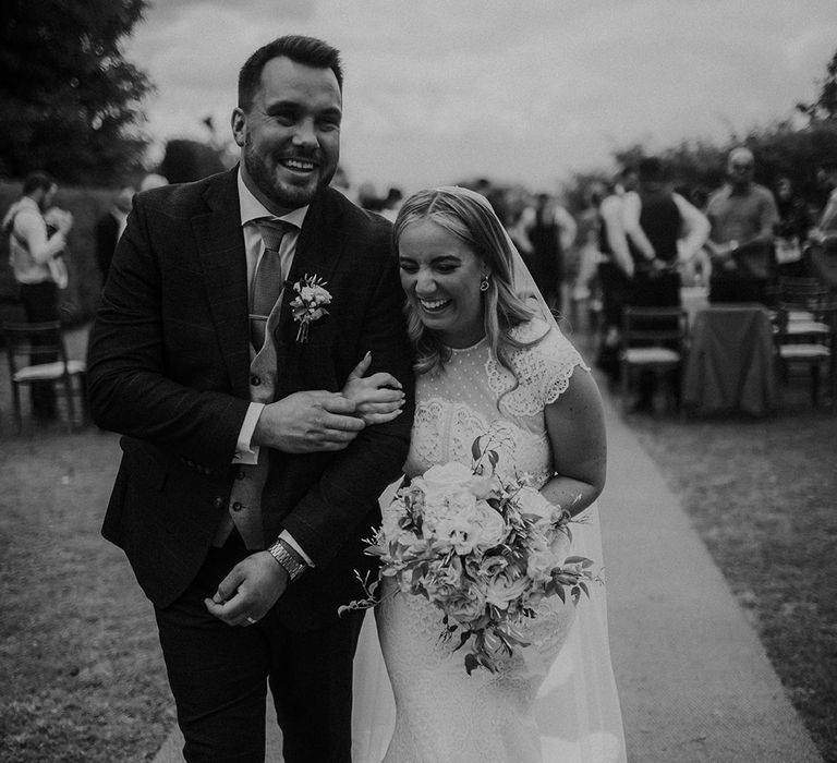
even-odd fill
[[[288,572],[268,552],[242,559],[204,604],[228,626],[252,626],[267,615],[288,588]]]

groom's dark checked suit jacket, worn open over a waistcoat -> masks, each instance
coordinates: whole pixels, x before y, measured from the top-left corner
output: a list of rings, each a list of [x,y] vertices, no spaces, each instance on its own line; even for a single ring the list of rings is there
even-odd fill
[[[231,465],[250,402],[248,305],[236,169],[138,194],[120,239],[88,346],[95,421],[122,434],[122,461],[102,534],[124,549],[160,607],[194,580],[227,512]],[[341,389],[364,353],[368,373],[404,387],[404,412],[365,428],[344,450],[270,451],[263,493],[268,543],[291,532],[314,561],[277,606],[306,630],[357,597],[354,570],[373,566],[362,538],[379,521],[378,496],[396,480],[413,413],[390,223],[331,189],[312,202],[289,281],[316,275],[332,295],[307,342],[286,289],[276,329],[276,398]]]

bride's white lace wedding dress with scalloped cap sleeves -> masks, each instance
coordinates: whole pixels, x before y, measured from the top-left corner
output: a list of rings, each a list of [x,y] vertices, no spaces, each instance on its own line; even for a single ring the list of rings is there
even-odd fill
[[[501,474],[527,473],[536,485],[551,476],[544,407],[567,389],[578,366],[586,366],[555,325],[535,319],[518,329],[526,341],[544,335],[512,353],[519,380],[496,361],[485,339],[453,350],[442,373],[418,378],[408,475],[451,460],[471,465],[473,440],[489,433]],[[595,506],[581,517],[586,519],[573,525],[568,555],[601,565]],[[355,761],[377,763],[384,750],[387,763],[624,760],[602,586],[593,586],[599,590],[577,607],[546,600],[522,656],[504,661],[496,674],[480,668],[471,676],[464,650],[454,651],[458,640],[439,639],[440,610],[420,596],[391,596],[390,586],[386,579],[376,620],[395,690],[395,732],[387,749],[392,710],[381,710],[386,690],[374,667],[367,622],[355,659]]]

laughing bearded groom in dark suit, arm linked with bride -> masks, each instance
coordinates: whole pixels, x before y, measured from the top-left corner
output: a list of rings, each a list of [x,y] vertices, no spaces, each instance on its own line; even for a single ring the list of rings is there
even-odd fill
[[[337,50],[257,50],[240,166],[136,196],[90,335],[94,417],[123,435],[102,533],[154,603],[189,761],[263,761],[268,681],[286,761],[350,760],[362,618],[337,608],[369,566],[413,384],[390,225],[328,187],[341,113]],[[331,302],[303,324],[311,278]],[[371,427],[338,393],[367,351],[410,390]]]

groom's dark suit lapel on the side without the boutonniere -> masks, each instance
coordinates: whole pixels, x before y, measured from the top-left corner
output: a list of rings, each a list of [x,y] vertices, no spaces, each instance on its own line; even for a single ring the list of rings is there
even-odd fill
[[[192,229],[230,385],[234,395],[248,399],[247,259],[236,172],[230,170],[209,185],[205,199],[210,211],[196,215]]]

